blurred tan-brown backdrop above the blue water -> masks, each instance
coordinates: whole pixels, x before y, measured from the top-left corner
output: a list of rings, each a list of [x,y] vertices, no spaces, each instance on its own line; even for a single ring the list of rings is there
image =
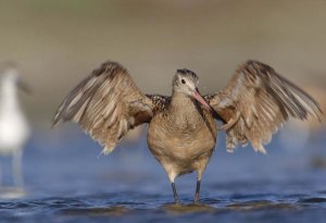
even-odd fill
[[[325,104],[325,10],[324,0],[0,1],[0,61],[15,61],[32,85],[23,100],[37,126],[105,60],[146,92],[170,94],[175,70],[188,67],[205,94],[256,59]]]

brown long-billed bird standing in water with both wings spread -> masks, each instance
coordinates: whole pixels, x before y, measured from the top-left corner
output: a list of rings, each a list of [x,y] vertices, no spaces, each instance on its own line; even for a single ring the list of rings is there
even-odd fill
[[[289,119],[318,119],[317,102],[299,87],[258,61],[241,64],[227,87],[202,97],[198,76],[177,70],[172,96],[142,94],[118,63],[105,62],[64,99],[53,125],[73,121],[104,146],[114,150],[128,129],[149,123],[148,146],[164,168],[174,193],[177,176],[197,172],[195,203],[199,202],[202,174],[214,151],[217,127],[226,131],[226,148],[250,143],[265,153],[263,144]]]

